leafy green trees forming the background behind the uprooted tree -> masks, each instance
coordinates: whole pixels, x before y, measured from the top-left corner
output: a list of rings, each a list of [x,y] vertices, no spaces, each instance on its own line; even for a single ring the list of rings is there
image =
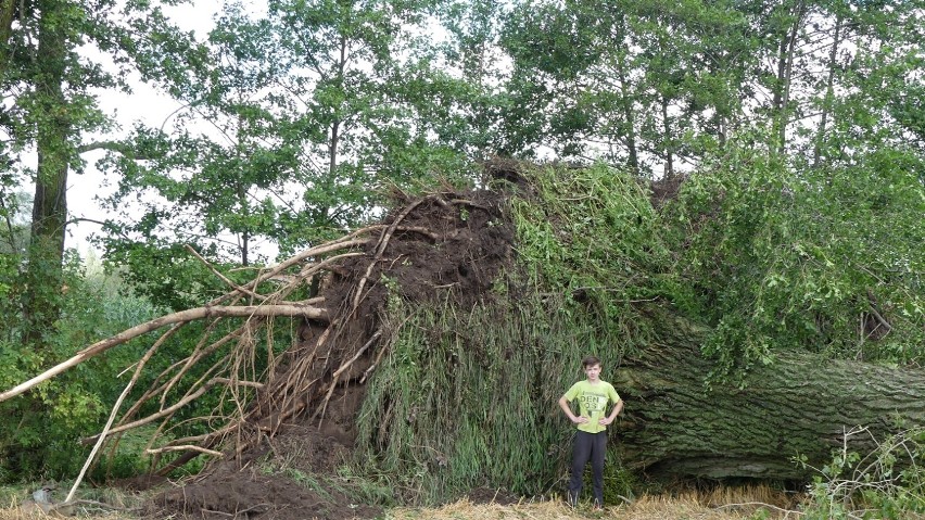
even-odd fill
[[[159,3],[4,2],[0,383],[208,300],[221,281],[197,255],[270,262],[261,244],[340,236],[389,191],[478,182],[494,156],[682,187],[654,239],[659,296],[712,327],[713,377],[777,348],[917,364],[923,8],[271,0],[228,3],[198,38]],[[139,78],[179,107],[119,127],[100,101]],[[118,291],[91,290],[64,250],[67,187],[94,151]],[[73,471],[124,368],[101,360],[4,403],[22,422],[0,431],[0,477]]]

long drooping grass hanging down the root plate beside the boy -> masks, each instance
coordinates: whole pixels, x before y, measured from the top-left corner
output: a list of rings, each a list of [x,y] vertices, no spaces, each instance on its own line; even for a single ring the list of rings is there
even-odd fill
[[[397,503],[441,503],[481,485],[559,487],[573,428],[556,399],[580,377],[582,356],[601,356],[606,371],[634,339],[603,335],[592,314],[547,308],[560,300],[528,297],[471,314],[393,310],[404,325],[357,419],[356,473],[389,475]],[[610,465],[608,496],[628,496],[631,481]]]

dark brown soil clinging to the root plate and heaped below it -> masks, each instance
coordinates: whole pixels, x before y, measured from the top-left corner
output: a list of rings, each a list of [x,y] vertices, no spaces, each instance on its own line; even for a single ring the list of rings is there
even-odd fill
[[[157,495],[151,513],[302,520],[379,512],[359,504],[337,469],[354,449],[364,384],[384,355],[375,346],[388,334],[383,309],[393,297],[471,306],[490,294],[514,242],[497,192],[447,190],[400,202],[362,254],[327,267],[318,295],[330,318],[303,321],[299,343],[254,401],[242,430],[249,440]]]

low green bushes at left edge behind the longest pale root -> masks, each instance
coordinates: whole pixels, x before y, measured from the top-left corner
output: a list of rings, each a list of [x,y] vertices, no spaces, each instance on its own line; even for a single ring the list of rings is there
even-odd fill
[[[18,347],[22,328],[15,319],[4,324],[0,386],[12,388],[76,350],[155,314],[144,300],[119,292],[118,280],[99,271],[88,276],[73,253],[64,266],[59,297],[61,319],[54,328],[49,327],[49,352]],[[77,441],[100,428],[125,381],[116,375],[141,355],[142,347],[141,342],[131,342],[110,356],[93,358],[39,385],[28,395],[2,403],[2,413],[16,420],[0,424],[0,479],[8,482],[75,474],[89,449]]]

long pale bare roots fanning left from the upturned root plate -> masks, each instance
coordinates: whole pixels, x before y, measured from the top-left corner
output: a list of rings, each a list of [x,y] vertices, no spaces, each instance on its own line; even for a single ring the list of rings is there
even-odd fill
[[[161,421],[160,427],[144,448],[144,453],[153,456],[154,467],[157,467],[162,456],[182,452],[182,455],[159,471],[160,474],[164,474],[199,455],[221,457],[223,452],[218,446],[226,442],[229,436],[236,439],[235,453],[240,454],[267,435],[275,435],[287,420],[306,409],[312,408],[314,410],[313,419],[318,418],[319,421],[324,421],[328,405],[338,385],[356,381],[365,382],[385,353],[384,347],[377,345],[381,343],[380,340],[385,333],[382,326],[346,359],[338,358],[338,356],[344,354],[340,351],[335,352],[335,346],[347,327],[354,326],[352,324],[354,324],[357,310],[375,283],[376,266],[380,265],[383,259],[388,261],[385,252],[391,239],[397,232],[419,236],[419,239],[431,242],[439,242],[441,238],[445,239],[445,237],[441,237],[427,228],[402,226],[405,217],[426,201],[447,208],[455,204],[479,207],[471,201],[446,201],[441,195],[429,195],[408,204],[389,225],[368,226],[340,239],[304,250],[275,266],[259,270],[254,279],[244,284],[233,282],[197,251],[188,248],[210,271],[229,288],[227,293],[212,300],[202,307],[165,315],[93,343],[69,359],[0,393],[0,402],[27,392],[110,348],[165,326],[170,326],[135,365],[132,377],[113,406],[101,433],[81,441],[85,444],[96,442],[96,445],[81,470],[80,477],[77,478],[74,489],[68,494],[68,500],[73,498],[84,473],[106,440],[117,443],[119,436],[125,432],[145,424]],[[377,231],[379,237],[375,241],[375,246],[371,246],[370,250],[373,239],[368,236]],[[357,251],[358,249],[365,249],[367,252]],[[329,308],[324,295],[301,301],[288,300],[300,288],[305,288],[306,283],[314,277],[325,272],[338,272],[342,269],[341,266],[344,265],[345,261],[353,261],[362,256],[367,258],[365,261],[367,266],[347,292],[347,297],[342,302],[340,308]],[[249,304],[242,305],[242,302]],[[278,317],[303,318],[324,327],[324,329],[320,329],[320,334],[311,352],[292,359],[291,366],[284,371],[280,368],[281,359],[276,357],[273,350],[273,321]],[[223,330],[220,326],[228,318],[243,318],[244,322],[214,339],[214,335]],[[151,357],[181,328],[192,321],[202,320],[208,320],[208,324],[201,340],[192,351],[157,375],[141,396],[119,417],[123,402],[140,379],[143,368]],[[259,354],[259,356],[265,355],[265,358],[258,358],[256,351],[257,338],[258,334],[263,333],[262,331],[266,333],[267,347],[266,353]],[[220,353],[223,348],[227,348],[228,352],[219,356],[218,360],[214,362],[211,367],[204,371],[195,370],[198,380],[189,384],[183,383],[188,376],[193,373],[194,367],[199,367],[204,359],[214,358],[214,355]],[[345,378],[345,373],[364,356],[369,356],[372,360],[365,367],[362,376]],[[290,355],[290,357],[292,356]],[[258,363],[258,359],[261,363]],[[257,367],[261,367],[259,370]],[[183,393],[178,396],[176,390],[180,386],[183,388]],[[174,419],[175,415],[216,388],[221,389],[219,402],[231,406],[219,405],[213,416],[197,417],[186,421],[206,421],[208,424],[218,426],[210,433],[163,442],[165,434],[177,427]],[[151,403],[159,405],[156,411],[148,413],[144,417],[139,418],[138,416],[144,405]],[[160,444],[157,443],[159,439],[162,440]]]

